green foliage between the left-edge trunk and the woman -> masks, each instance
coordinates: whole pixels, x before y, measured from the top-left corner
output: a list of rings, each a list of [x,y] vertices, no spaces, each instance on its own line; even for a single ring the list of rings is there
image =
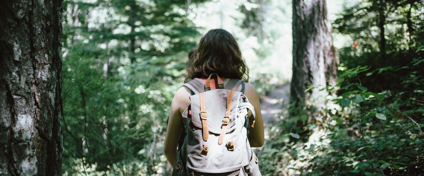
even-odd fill
[[[185,3],[64,2],[65,175],[168,174],[169,106],[199,35]]]

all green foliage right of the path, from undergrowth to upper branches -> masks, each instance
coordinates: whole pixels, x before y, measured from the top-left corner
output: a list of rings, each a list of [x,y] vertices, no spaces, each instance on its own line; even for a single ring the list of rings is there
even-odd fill
[[[320,112],[326,115],[297,130],[307,137],[295,138],[287,129],[295,129],[293,119],[309,111],[272,127],[258,152],[263,175],[424,173],[422,8],[417,1],[371,0],[346,8],[334,31],[357,45],[338,49],[338,85],[321,89],[329,93]],[[386,17],[385,51],[378,26],[381,12]]]

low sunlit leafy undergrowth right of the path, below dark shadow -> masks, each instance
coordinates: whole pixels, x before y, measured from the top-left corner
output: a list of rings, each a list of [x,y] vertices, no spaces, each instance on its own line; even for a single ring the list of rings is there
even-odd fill
[[[409,65],[410,74],[399,80],[403,84],[413,81],[418,87],[380,93],[369,92],[357,77],[360,73],[365,75],[369,67],[343,70],[338,79],[340,84],[322,90],[338,89],[340,95],[327,97],[327,119],[305,127],[311,130],[307,142],[293,141],[289,137],[298,139],[297,134],[281,135],[278,128],[273,129],[272,141],[258,154],[267,160],[261,165],[264,175],[418,175],[424,172],[421,130],[424,107],[423,102],[415,98],[422,100],[424,95],[421,90],[424,65],[412,67],[413,62]],[[389,72],[393,71],[381,74]],[[284,126],[287,121],[280,123]],[[277,165],[271,165],[269,160],[276,161]]]

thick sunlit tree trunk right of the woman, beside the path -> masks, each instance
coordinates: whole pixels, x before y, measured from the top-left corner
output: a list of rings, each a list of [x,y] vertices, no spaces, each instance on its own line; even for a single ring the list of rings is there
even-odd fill
[[[338,59],[327,19],[325,0],[293,0],[293,76],[290,84],[290,116],[298,116],[300,130],[311,116],[325,108],[324,91],[308,86],[335,85]],[[332,80],[332,81],[329,81]],[[312,102],[313,101],[313,102]],[[305,111],[306,110],[306,111]]]

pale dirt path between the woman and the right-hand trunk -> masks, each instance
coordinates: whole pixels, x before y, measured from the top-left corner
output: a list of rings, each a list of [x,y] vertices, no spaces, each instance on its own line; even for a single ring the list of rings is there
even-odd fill
[[[269,95],[260,96],[262,119],[265,127],[265,139],[269,138],[268,128],[276,122],[276,114],[283,112],[289,103],[290,84],[283,84]]]

